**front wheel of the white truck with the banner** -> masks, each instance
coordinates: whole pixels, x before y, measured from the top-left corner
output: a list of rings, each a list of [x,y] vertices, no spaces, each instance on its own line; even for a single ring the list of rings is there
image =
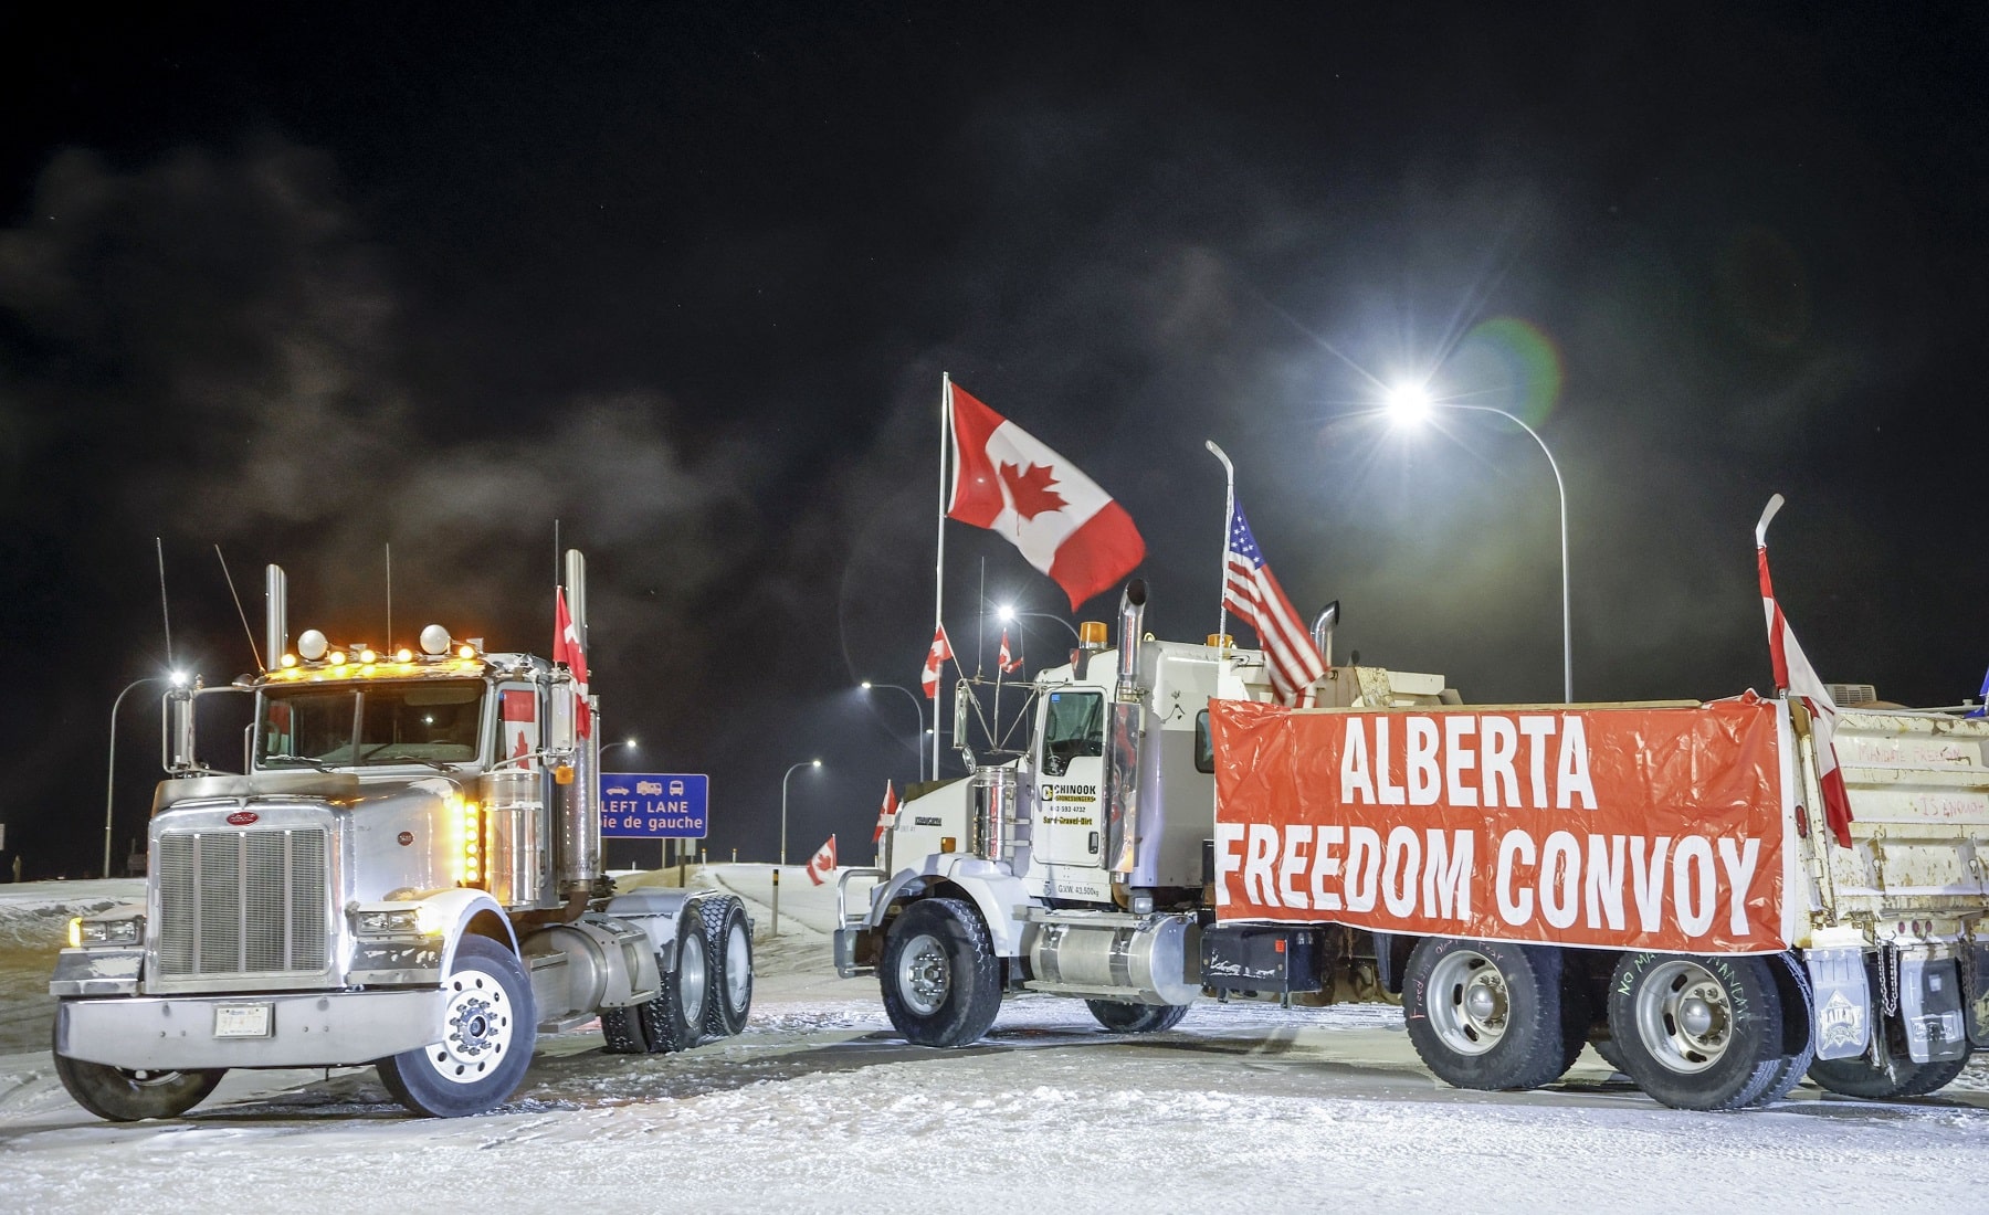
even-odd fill
[[[1000,1012],[1000,960],[961,899],[919,899],[891,921],[877,966],[883,1010],[915,1046],[965,1046]]]

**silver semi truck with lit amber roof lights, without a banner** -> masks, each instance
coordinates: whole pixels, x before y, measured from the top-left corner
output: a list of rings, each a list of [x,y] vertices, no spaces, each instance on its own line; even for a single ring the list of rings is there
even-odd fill
[[[575,648],[585,583],[569,551]],[[167,694],[145,903],[70,927],[56,1070],[86,1110],[173,1118],[229,1068],[374,1064],[453,1118],[509,1098],[541,1032],[599,1016],[611,1052],[662,1052],[744,1026],[740,901],[603,873],[599,702],[567,664],[440,624],[292,650],[274,565],[267,646],[263,674]],[[241,774],[195,758],[211,692],[255,696]]]

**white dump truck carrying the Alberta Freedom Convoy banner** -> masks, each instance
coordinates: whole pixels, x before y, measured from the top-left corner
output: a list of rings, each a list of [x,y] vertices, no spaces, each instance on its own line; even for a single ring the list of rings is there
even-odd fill
[[[1989,1042],[1989,722],[1846,708],[1840,845],[1800,700],[1466,706],[1341,666],[1287,710],[1263,652],[1154,640],[1144,608],[1136,581],[1116,652],[1086,622],[1036,676],[1020,758],[969,754],[843,875],[837,970],[911,1042],[973,1042],[1010,992],[1116,1032],[1386,1000],[1454,1086],[1537,1088],[1593,1042],[1687,1110],[1804,1074],[1927,1094]]]

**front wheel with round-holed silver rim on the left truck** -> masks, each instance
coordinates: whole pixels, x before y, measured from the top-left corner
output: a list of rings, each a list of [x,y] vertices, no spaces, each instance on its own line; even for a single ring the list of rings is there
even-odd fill
[[[539,1028],[531,980],[503,945],[463,937],[442,988],[442,1040],[380,1060],[380,1082],[416,1114],[483,1114],[517,1092],[531,1066]]]

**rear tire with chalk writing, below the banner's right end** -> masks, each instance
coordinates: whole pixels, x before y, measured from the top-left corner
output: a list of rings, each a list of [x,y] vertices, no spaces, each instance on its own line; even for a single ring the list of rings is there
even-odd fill
[[[1760,956],[1623,955],[1609,1036],[1637,1088],[1673,1110],[1740,1110],[1784,1078],[1782,994]]]

